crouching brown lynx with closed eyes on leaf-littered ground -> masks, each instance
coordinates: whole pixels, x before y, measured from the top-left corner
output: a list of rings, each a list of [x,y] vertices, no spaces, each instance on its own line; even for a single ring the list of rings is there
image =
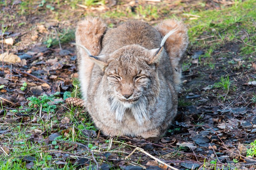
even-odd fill
[[[132,20],[107,28],[87,17],[75,36],[81,91],[97,128],[109,136],[163,135],[177,113],[184,24]]]

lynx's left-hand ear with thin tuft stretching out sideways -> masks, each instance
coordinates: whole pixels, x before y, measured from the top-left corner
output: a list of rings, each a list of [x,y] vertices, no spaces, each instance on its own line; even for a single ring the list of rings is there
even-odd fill
[[[93,56],[91,55],[91,52],[86,49],[85,46],[81,45],[81,44],[76,44],[76,43],[71,43],[73,45],[76,45],[78,47],[81,47],[89,56],[89,58],[98,66],[100,66],[100,68],[102,69],[102,71],[104,72],[105,68],[107,67],[107,62],[106,62],[106,56],[105,55],[101,55],[101,56]]]

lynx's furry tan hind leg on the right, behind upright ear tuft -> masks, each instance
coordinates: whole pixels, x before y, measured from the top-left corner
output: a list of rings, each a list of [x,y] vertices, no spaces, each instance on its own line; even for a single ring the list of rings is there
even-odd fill
[[[155,28],[161,33],[162,36],[169,33],[172,29],[177,29],[177,31],[166,40],[164,47],[171,60],[174,73],[174,83],[176,84],[176,89],[178,90],[181,83],[180,60],[188,45],[187,28],[181,21],[176,21],[175,19],[167,19],[162,21]]]

